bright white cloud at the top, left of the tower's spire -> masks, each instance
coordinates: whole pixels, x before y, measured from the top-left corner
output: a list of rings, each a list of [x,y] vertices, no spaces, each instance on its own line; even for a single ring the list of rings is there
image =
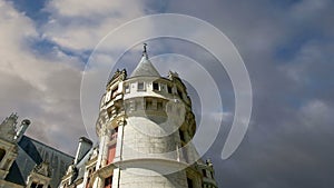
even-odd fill
[[[118,26],[144,16],[145,3],[137,0],[56,0],[50,1],[46,10],[51,19],[43,26],[45,38],[72,50],[87,50],[94,49]]]

